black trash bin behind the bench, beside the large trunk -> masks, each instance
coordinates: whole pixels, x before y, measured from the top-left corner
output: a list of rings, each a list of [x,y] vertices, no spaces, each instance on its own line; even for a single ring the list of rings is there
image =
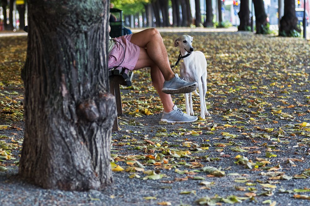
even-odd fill
[[[110,9],[111,17],[109,20],[111,31],[110,36],[112,38],[124,35],[124,22],[123,22],[123,11],[120,9]]]

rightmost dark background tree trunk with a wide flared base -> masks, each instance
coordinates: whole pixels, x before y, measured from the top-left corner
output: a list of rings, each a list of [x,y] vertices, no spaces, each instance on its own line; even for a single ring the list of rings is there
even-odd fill
[[[297,17],[294,0],[284,0],[284,15],[280,20],[279,36],[290,36],[293,30],[300,32],[297,28]]]

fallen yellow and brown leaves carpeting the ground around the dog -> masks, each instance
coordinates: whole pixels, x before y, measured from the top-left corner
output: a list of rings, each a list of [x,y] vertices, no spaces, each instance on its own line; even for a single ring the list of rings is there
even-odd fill
[[[276,205],[280,194],[308,201],[309,41],[249,33],[190,35],[193,47],[207,59],[206,103],[211,116],[190,124],[159,122],[163,108],[149,70],[135,71],[133,86],[121,90],[125,115],[118,117],[121,130],[112,133],[113,172],[191,195],[188,204]],[[172,65],[179,54],[173,46],[178,35],[162,37]],[[16,121],[23,121],[19,74],[26,40],[7,40],[10,46],[1,47],[0,131],[18,130]],[[184,95],[172,98],[185,110]],[[195,95],[193,107],[199,116]],[[12,133],[0,137],[0,171],[18,164],[19,152],[12,151],[20,149],[22,139],[15,140]],[[190,186],[175,186],[188,181]],[[219,187],[229,191],[219,192]],[[140,201],[175,205],[180,198],[172,202],[158,193]]]

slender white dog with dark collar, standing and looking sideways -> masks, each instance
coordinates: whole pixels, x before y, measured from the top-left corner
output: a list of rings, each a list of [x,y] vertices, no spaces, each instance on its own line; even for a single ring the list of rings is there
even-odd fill
[[[210,116],[206,107],[207,92],[207,61],[200,51],[194,51],[192,47],[193,37],[182,35],[175,39],[174,46],[180,48],[181,62],[180,75],[188,82],[197,82],[200,97],[200,117],[205,119]],[[197,91],[196,91],[197,93]],[[192,93],[185,94],[186,114],[194,115]]]

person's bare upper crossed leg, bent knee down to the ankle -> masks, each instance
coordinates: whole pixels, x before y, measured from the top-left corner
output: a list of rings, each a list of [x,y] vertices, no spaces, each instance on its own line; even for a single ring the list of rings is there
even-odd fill
[[[145,29],[135,33],[131,36],[130,42],[139,47],[146,48],[148,57],[160,69],[164,80],[169,81],[174,77],[174,73],[170,68],[166,47],[157,29]]]

